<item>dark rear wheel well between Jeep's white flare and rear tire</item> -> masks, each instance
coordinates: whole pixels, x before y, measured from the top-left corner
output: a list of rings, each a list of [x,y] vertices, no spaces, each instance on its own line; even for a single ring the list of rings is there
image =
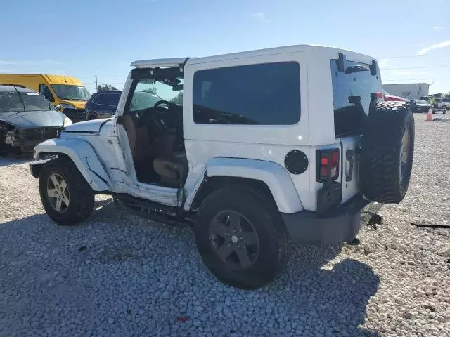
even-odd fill
[[[268,201],[274,204],[276,210],[276,202],[274,196],[272,195],[269,186],[262,180],[241,178],[241,177],[229,177],[229,176],[214,176],[205,177],[198,192],[195,194],[193,203],[191,204],[191,211],[196,211],[202,204],[205,197],[210,195],[212,192],[220,190],[224,187],[230,187],[231,185],[236,185],[239,187],[250,187],[261,192]]]

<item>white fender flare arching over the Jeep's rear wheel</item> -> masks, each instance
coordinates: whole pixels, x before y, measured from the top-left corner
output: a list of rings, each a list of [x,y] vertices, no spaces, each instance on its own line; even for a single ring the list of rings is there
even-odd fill
[[[217,157],[208,161],[206,174],[208,177],[223,176],[261,180],[269,187],[279,211],[295,213],[303,210],[302,202],[288,171],[274,162]],[[195,197],[195,192],[188,194],[184,206],[186,210],[190,208],[193,197]]]

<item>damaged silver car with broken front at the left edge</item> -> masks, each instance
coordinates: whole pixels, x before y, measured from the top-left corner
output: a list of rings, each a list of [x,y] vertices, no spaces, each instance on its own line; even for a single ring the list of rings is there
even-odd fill
[[[70,124],[40,93],[24,86],[0,85],[0,154],[30,152]]]

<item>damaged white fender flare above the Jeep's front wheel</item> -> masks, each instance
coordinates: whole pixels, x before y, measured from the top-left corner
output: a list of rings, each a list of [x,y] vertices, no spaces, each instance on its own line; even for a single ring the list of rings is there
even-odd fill
[[[34,147],[34,159],[39,159],[41,153],[65,154],[70,157],[94,191],[108,191],[113,185],[94,148],[86,140],[46,140]]]

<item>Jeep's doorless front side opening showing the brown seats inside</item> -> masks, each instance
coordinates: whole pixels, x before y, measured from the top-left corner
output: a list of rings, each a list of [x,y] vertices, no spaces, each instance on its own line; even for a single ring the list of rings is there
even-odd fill
[[[139,183],[182,187],[188,173],[180,67],[134,69],[121,123]]]

